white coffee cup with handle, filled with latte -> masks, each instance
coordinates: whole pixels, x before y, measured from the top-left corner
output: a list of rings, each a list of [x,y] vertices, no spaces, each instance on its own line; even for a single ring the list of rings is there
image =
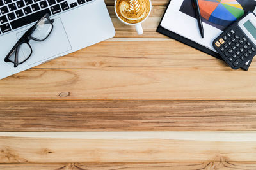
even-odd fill
[[[147,20],[152,9],[151,0],[115,0],[116,17],[126,25],[134,25],[143,34],[141,23]]]

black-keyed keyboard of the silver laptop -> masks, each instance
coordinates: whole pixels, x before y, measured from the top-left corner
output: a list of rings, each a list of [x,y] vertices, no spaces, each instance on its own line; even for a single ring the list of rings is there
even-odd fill
[[[95,0],[0,0],[0,36],[40,20],[45,13],[56,15]]]

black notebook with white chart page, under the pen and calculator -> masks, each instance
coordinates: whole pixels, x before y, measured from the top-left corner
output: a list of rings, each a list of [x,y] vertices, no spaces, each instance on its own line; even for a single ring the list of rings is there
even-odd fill
[[[212,41],[237,18],[248,11],[256,11],[256,1],[198,0],[198,3],[204,25],[204,39],[201,38],[191,0],[170,1],[157,27],[157,32],[221,59],[220,55],[214,50]],[[246,63],[241,68],[248,70],[251,62]]]

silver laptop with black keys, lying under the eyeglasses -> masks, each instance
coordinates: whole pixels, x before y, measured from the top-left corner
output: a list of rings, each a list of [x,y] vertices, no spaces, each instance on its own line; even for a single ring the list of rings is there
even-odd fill
[[[54,27],[45,41],[29,41],[26,62],[4,62],[13,45],[46,13]],[[0,79],[115,36],[104,0],[0,0]]]

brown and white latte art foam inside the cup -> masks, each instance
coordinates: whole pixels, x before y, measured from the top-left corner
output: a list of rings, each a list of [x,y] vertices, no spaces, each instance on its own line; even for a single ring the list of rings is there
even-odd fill
[[[144,20],[150,11],[148,0],[117,0],[116,13],[130,24],[136,24]]]

